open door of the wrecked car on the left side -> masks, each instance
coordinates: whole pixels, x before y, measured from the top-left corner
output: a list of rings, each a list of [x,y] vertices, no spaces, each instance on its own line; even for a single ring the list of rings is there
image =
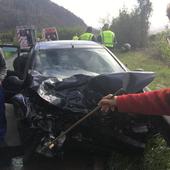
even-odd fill
[[[0,45],[0,48],[5,58],[7,67],[7,75],[2,85],[5,92],[5,101],[10,103],[11,98],[22,89],[22,84],[24,81],[24,63],[26,63],[26,57],[22,58],[23,55],[21,54],[18,46]],[[22,70],[22,72],[19,70]]]

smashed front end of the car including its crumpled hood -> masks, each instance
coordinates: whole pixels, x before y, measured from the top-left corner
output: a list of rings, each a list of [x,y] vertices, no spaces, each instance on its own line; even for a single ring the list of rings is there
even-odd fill
[[[122,88],[126,93],[143,92],[155,75],[152,72],[80,74],[62,81],[35,71],[31,76],[30,87],[17,94],[13,103],[18,108],[21,139],[25,145],[34,145],[33,151],[51,157],[73,146],[102,152],[118,148],[143,150],[147,136],[155,131],[149,117],[98,110],[49,149],[50,142],[94,109],[102,96]]]

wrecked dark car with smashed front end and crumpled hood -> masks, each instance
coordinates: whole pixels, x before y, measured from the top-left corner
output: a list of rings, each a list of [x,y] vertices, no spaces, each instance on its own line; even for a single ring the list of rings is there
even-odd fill
[[[79,122],[108,93],[146,91],[153,72],[129,71],[109,50],[90,41],[39,42],[16,60],[4,87],[27,157],[53,157],[70,149],[142,151],[157,132],[169,141],[164,117],[102,113],[98,108]]]

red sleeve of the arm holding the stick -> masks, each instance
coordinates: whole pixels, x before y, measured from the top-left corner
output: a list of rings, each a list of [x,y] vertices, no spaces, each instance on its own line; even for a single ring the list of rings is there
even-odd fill
[[[117,97],[119,112],[170,115],[170,88]]]

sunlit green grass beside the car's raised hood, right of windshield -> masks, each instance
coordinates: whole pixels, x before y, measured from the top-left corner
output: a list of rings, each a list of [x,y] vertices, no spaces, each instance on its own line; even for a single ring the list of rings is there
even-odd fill
[[[170,68],[146,51],[117,53],[116,55],[131,70],[142,68],[144,71],[155,72],[156,78],[149,86],[151,89],[170,87]]]

